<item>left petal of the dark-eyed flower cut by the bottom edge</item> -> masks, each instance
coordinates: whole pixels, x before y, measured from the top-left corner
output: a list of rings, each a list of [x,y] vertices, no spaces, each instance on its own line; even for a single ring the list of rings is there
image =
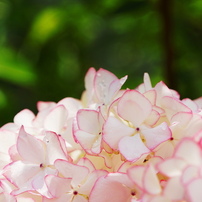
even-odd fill
[[[71,190],[71,178],[47,175],[45,177],[45,183],[53,197],[60,197]]]

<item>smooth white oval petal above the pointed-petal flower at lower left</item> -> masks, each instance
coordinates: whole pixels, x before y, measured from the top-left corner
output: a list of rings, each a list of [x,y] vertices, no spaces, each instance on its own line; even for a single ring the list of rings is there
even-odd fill
[[[66,121],[67,121],[68,112],[63,105],[55,107],[50,113],[46,116],[44,120],[44,128],[56,133],[61,133]]]

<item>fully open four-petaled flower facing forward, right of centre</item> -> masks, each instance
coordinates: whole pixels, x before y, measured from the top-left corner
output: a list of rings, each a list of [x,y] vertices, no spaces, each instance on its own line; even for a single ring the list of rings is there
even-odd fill
[[[126,91],[117,104],[121,119],[113,116],[107,119],[103,128],[104,140],[129,161],[149,154],[171,137],[166,123],[152,127],[159,118],[158,114],[152,112],[152,105],[144,95],[135,90]]]

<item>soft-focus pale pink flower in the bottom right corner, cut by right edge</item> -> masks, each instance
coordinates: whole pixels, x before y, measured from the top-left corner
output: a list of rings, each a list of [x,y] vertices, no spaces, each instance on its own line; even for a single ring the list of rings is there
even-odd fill
[[[201,146],[191,138],[183,138],[177,145],[173,157],[158,165],[160,172],[170,178],[164,192],[167,190],[169,194],[172,193],[170,198],[173,200],[199,202],[202,196],[201,166]]]

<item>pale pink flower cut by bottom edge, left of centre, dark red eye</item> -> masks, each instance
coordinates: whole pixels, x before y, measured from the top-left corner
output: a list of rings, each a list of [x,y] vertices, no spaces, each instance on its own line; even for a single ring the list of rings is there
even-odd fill
[[[87,159],[81,159],[77,165],[56,160],[55,167],[63,177],[48,175],[45,178],[54,201],[87,202],[95,181],[107,174],[104,170],[95,170]]]

